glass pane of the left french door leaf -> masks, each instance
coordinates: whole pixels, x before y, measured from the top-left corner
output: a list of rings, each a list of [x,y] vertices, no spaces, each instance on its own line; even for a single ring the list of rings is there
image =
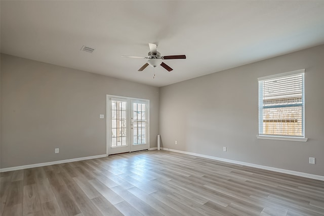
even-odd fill
[[[127,145],[126,101],[111,101],[111,146]]]

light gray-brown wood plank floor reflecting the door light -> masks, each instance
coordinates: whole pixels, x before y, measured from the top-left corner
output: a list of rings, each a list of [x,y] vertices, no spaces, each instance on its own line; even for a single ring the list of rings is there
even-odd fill
[[[167,151],[1,173],[1,215],[324,215],[324,182]]]

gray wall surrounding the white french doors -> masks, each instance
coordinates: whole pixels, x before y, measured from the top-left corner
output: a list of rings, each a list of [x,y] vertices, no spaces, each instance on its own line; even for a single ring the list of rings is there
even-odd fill
[[[107,94],[150,100],[156,147],[158,88],[2,54],[1,168],[106,154]]]

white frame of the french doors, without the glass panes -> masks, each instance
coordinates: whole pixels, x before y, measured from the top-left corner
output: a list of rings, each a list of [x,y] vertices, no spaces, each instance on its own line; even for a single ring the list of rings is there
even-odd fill
[[[114,98],[114,99],[122,99],[122,100],[127,100],[128,101],[128,113],[127,113],[127,116],[128,116],[128,131],[129,133],[132,133],[129,135],[130,139],[129,139],[129,152],[132,151],[132,146],[133,146],[133,138],[131,136],[133,136],[133,130],[131,130],[131,124],[130,122],[131,121],[131,110],[133,110],[133,108],[131,107],[132,104],[131,102],[132,101],[145,101],[147,103],[147,121],[148,121],[148,132],[147,132],[147,142],[148,142],[148,149],[150,148],[150,142],[149,142],[149,131],[150,131],[150,127],[149,127],[149,100],[147,99],[141,99],[141,98],[131,98],[131,97],[124,97],[124,96],[117,96],[117,95],[106,95],[106,154],[107,156],[109,155],[109,149],[111,148],[111,135],[110,133],[108,133],[108,130],[110,128],[110,124],[111,124],[111,116],[110,116],[110,103],[109,103],[109,100],[111,98]],[[117,147],[118,148],[118,147]],[[136,148],[135,148],[135,151],[136,151]]]

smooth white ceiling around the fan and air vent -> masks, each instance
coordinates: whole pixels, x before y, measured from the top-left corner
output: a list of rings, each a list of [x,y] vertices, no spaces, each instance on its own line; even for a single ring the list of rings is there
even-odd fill
[[[2,53],[157,87],[320,44],[324,1],[1,1]]]

